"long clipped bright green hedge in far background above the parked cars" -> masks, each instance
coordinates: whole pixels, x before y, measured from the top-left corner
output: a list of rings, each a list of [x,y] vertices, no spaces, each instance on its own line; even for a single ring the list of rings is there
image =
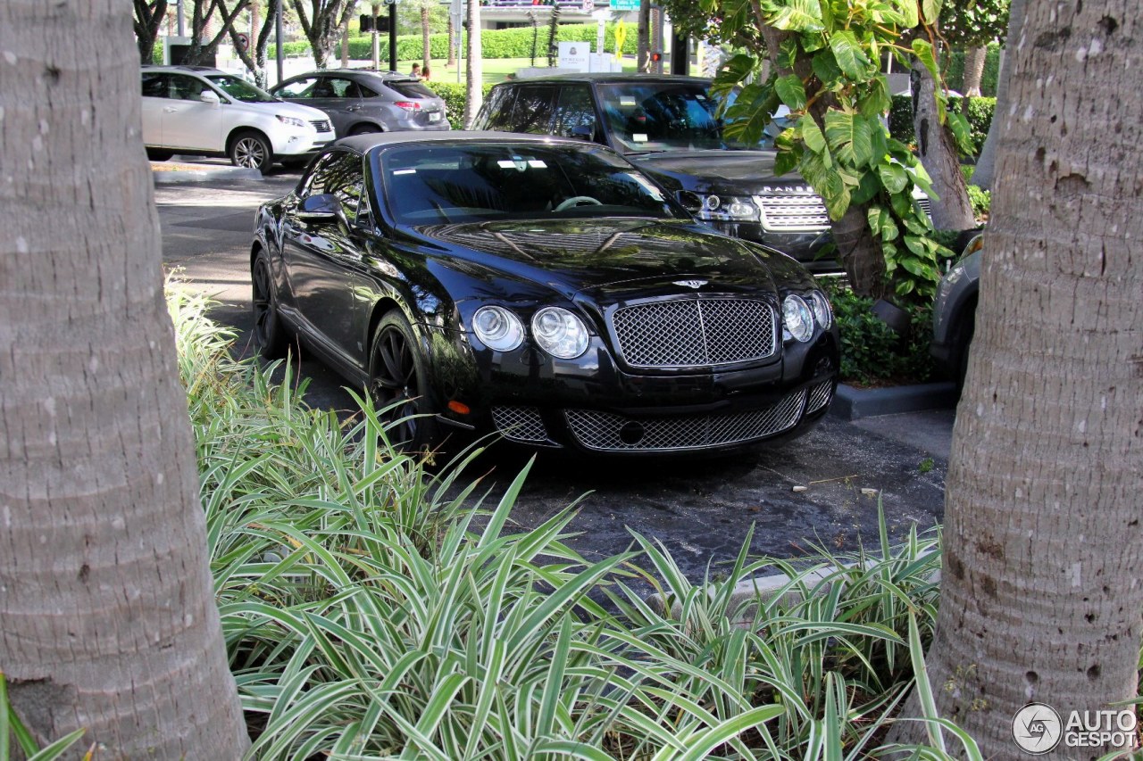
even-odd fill
[[[598,29],[596,24],[560,24],[555,39],[560,42],[596,42]],[[381,48],[381,59],[389,59],[389,35],[382,34],[378,40]],[[464,45],[462,38],[461,45]],[[623,51],[630,55],[636,53],[636,34],[629,33],[623,42]],[[397,38],[398,61],[418,61],[423,53],[423,41],[419,34],[401,34]],[[541,24],[539,35],[536,45],[536,61],[547,58],[547,27]],[[615,24],[607,24],[604,34],[604,47],[608,51],[615,50]],[[433,58],[448,57],[448,34],[431,34],[429,37],[430,55]],[[266,54],[273,58],[274,46],[270,46]],[[287,42],[282,46],[287,56],[310,55],[310,42],[299,40]],[[531,27],[485,30],[480,33],[480,51],[483,58],[528,58],[531,56]],[[597,51],[598,53],[598,51]],[[335,46],[335,57],[341,55],[341,47]],[[373,57],[373,35],[350,38],[350,58],[365,59]]]

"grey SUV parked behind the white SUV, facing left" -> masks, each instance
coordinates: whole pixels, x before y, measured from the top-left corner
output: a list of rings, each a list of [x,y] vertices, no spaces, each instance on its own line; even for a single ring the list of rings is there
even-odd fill
[[[449,129],[443,98],[408,74],[331,69],[291,77],[270,93],[323,111],[337,137]]]

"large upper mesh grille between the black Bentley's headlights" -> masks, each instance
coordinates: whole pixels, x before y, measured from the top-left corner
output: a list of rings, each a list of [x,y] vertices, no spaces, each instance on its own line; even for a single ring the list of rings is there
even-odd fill
[[[705,367],[769,357],[774,310],[751,298],[700,298],[625,306],[612,317],[632,367]]]

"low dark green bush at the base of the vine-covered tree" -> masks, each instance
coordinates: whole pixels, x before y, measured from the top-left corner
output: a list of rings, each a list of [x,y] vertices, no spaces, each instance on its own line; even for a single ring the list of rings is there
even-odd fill
[[[847,286],[830,289],[830,303],[841,331],[841,380],[856,385],[924,383],[936,371],[929,357],[933,306],[908,306],[909,335],[898,336],[873,314],[873,299]]]

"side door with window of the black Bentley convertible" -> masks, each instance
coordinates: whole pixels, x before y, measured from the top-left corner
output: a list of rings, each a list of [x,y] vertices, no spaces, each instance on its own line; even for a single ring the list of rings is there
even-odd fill
[[[345,359],[358,353],[362,251],[352,225],[361,197],[361,157],[333,151],[321,157],[309,181],[282,219],[282,261],[299,321],[311,337]],[[333,194],[345,219],[311,222],[299,218],[306,199]]]

